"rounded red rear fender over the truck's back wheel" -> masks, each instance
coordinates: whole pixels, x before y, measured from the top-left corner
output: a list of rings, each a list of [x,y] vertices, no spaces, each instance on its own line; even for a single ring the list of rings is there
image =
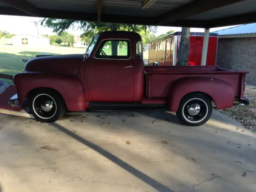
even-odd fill
[[[180,100],[191,92],[201,92],[212,97],[218,109],[229,108],[234,103],[232,86],[222,80],[207,77],[185,77],[173,83],[168,104],[173,112],[178,110]]]

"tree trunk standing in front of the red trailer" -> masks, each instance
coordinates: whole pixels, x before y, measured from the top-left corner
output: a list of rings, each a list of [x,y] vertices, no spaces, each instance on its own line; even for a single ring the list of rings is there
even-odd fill
[[[182,27],[176,66],[188,65],[190,28]]]

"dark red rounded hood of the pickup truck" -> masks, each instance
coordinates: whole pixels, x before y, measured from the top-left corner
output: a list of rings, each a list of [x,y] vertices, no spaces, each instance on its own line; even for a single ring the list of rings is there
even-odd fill
[[[29,60],[23,72],[44,72],[77,75],[84,54],[38,56]]]

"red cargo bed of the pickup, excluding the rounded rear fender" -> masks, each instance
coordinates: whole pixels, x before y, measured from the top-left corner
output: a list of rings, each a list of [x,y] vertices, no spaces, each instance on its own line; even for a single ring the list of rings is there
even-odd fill
[[[145,66],[146,97],[167,97],[180,78],[207,77],[228,82],[236,97],[243,97],[246,71],[231,71],[218,66]]]

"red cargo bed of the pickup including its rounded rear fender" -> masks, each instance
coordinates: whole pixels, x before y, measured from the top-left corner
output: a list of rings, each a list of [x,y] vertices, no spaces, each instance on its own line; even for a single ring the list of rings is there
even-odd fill
[[[177,111],[180,100],[191,92],[209,95],[216,102],[217,108],[231,107],[235,97],[243,96],[241,92],[244,92],[244,85],[241,82],[246,73],[222,70],[217,66],[147,66],[145,72],[146,96],[168,97],[168,104],[174,112]]]

